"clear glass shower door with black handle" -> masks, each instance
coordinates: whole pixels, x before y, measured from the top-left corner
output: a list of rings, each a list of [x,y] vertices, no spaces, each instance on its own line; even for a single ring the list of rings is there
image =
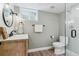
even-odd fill
[[[79,55],[79,4],[66,4],[67,56]]]

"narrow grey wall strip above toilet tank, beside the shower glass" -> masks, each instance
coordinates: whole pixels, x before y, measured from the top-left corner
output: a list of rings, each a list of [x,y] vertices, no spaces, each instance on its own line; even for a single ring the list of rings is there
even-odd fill
[[[59,14],[59,36],[65,36],[65,12]]]

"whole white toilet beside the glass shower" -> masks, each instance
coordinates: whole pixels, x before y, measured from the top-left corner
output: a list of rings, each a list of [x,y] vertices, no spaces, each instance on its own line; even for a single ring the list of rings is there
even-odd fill
[[[53,42],[54,54],[55,55],[63,55],[65,54],[65,46],[68,45],[68,37],[60,36],[59,42]]]

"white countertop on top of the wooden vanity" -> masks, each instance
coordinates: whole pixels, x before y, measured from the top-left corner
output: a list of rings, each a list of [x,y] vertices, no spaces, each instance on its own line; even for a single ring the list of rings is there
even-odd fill
[[[9,37],[8,39],[0,40],[2,41],[14,41],[14,40],[28,40],[29,35],[28,34],[20,34],[20,35],[13,35],[12,37]]]

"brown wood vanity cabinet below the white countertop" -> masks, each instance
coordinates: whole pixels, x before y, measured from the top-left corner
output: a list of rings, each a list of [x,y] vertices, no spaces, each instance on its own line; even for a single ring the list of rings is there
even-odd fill
[[[27,56],[28,40],[10,40],[0,42],[0,56]]]

